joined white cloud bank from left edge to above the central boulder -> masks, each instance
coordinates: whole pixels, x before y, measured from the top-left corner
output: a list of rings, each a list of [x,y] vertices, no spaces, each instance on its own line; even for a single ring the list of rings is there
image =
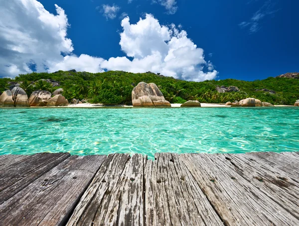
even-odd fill
[[[67,16],[55,6],[56,15],[36,0],[0,1],[0,77],[30,73],[31,66],[37,72],[151,71],[189,81],[217,76],[212,62],[204,60],[203,49],[187,37],[186,31],[174,24],[161,25],[150,14],[136,24],[131,24],[128,16],[122,20],[120,46],[127,57],[105,60],[86,54],[76,56],[67,38]]]

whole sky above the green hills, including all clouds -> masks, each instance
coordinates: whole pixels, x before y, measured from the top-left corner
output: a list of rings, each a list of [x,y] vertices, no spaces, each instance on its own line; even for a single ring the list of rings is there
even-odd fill
[[[296,0],[0,0],[0,77],[151,71],[253,81],[299,71]]]

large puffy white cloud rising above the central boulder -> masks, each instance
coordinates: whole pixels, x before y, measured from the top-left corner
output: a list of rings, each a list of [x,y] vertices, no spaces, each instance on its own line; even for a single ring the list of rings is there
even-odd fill
[[[129,17],[124,18],[122,27],[121,48],[134,59],[112,57],[101,64],[102,68],[135,73],[151,71],[189,81],[210,80],[217,76],[212,63],[204,60],[203,49],[197,48],[187,38],[186,31],[179,31],[174,24],[160,25],[147,14],[136,24],[131,24]],[[205,67],[209,72],[203,72]]]

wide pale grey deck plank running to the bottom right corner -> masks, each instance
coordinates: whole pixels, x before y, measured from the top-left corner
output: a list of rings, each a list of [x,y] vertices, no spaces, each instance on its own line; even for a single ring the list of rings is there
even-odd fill
[[[226,225],[299,225],[299,219],[219,155],[183,154],[180,158]]]

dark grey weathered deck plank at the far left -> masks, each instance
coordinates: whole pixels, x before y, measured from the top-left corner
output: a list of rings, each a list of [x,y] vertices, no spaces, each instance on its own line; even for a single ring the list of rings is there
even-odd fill
[[[15,155],[14,155],[15,156]],[[38,153],[17,158],[0,173],[0,204],[21,191],[70,156],[69,153]],[[11,160],[13,162],[13,160]]]

